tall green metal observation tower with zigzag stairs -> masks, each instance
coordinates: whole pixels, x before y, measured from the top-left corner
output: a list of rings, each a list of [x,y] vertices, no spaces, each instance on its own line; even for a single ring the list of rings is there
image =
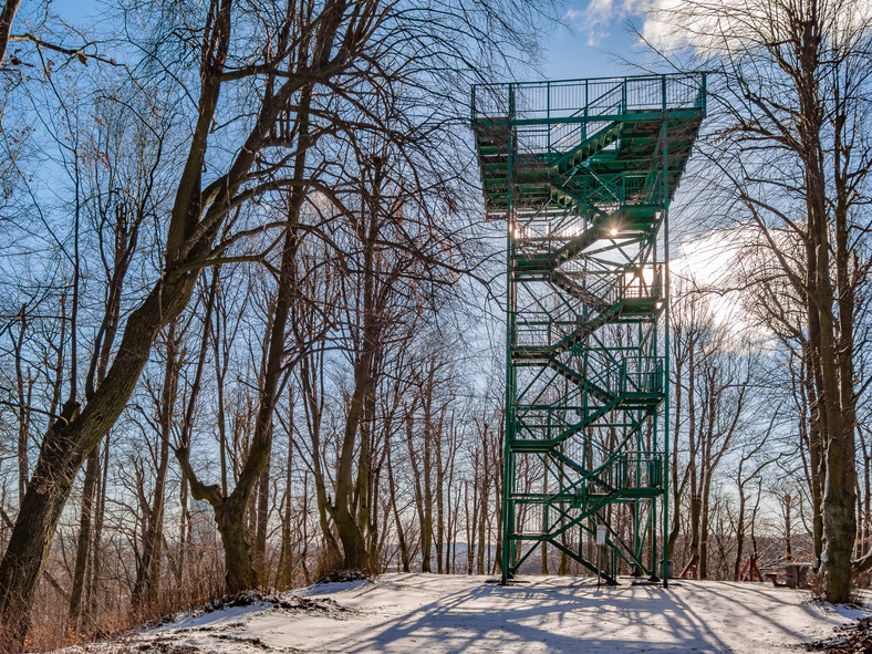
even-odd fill
[[[667,583],[667,215],[705,101],[703,74],[473,87],[507,226],[504,583],[549,547]]]

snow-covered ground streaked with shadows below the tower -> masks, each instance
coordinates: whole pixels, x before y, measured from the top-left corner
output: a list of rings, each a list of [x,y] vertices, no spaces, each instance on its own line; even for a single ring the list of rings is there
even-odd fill
[[[863,612],[761,583],[675,581],[596,588],[591,578],[385,574],[295,591],[309,611],[266,604],[183,614],[79,652],[799,652]]]

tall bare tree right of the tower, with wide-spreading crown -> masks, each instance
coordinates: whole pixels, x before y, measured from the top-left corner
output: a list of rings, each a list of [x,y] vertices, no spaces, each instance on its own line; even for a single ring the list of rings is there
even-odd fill
[[[662,19],[706,59],[702,65],[722,73],[712,86],[723,111],[716,184],[744,209],[802,302],[823,459],[820,572],[827,599],[843,602],[857,530],[855,311],[870,264],[860,207],[872,164],[862,118],[872,17],[841,0],[766,0],[687,2]],[[785,251],[777,229],[799,239],[800,258]]]

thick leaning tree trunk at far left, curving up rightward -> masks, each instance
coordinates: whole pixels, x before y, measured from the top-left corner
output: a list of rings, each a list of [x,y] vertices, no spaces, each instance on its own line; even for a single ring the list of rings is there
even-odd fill
[[[187,237],[194,231],[193,224],[200,218],[203,210],[200,173],[230,39],[230,7],[229,0],[225,0],[215,8],[211,42],[203,62],[198,121],[167,228],[164,274],[128,316],[115,361],[103,383],[87,398],[84,409],[80,414],[77,404],[68,403],[43,439],[15,527],[0,562],[0,651],[14,651],[23,644],[37,584],[73,480],[87,454],[108,433],[124,409],[157,333],[181,313],[190,299],[197,272],[181,270],[177,266],[187,256],[203,257],[210,247],[208,236],[196,241],[189,241]],[[250,168],[253,155],[250,148],[240,153],[231,169],[236,178],[228,183],[228,191],[241,184],[241,174]],[[226,198],[217,197],[209,210],[222,216]],[[212,217],[220,222],[220,218]]]

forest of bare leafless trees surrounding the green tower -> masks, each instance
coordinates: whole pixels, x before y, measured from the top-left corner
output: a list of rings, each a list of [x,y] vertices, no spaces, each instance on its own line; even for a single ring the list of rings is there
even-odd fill
[[[559,8],[107,4],[0,13],[0,652],[338,570],[498,572],[505,225],[468,92],[532,74]],[[809,561],[843,601],[872,569],[870,30],[755,6],[662,17],[695,49],[664,61],[714,71],[671,218],[668,558]]]

